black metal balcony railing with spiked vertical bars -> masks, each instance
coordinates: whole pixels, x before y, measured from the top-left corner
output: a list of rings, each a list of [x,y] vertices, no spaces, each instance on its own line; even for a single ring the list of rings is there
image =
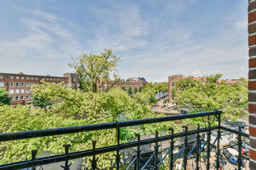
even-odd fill
[[[116,129],[116,141],[117,144],[113,146],[106,146],[102,148],[96,148],[96,141],[92,141],[92,150],[84,150],[79,152],[70,152],[68,153],[68,148],[70,145],[64,145],[65,147],[65,154],[60,155],[53,155],[49,157],[40,157],[36,158],[36,150],[32,151],[32,157],[31,160],[22,160],[20,162],[12,162],[9,164],[2,164],[0,165],[0,169],[22,169],[22,168],[28,168],[31,167],[32,169],[35,169],[36,166],[44,166],[46,164],[52,164],[55,162],[61,162],[65,161],[65,165],[61,166],[63,169],[69,169],[71,164],[68,164],[68,160],[72,159],[79,159],[83,157],[92,157],[92,159],[88,159],[87,161],[91,162],[91,167],[88,167],[88,169],[100,169],[97,167],[97,158],[96,155],[102,154],[102,153],[108,153],[108,152],[116,152],[115,155],[115,163],[111,165],[112,167],[115,167],[115,169],[159,169],[159,167],[163,164],[163,162],[168,162],[169,169],[173,169],[173,165],[175,164],[175,161],[180,157],[181,154],[182,160],[183,160],[183,167],[186,169],[188,166],[188,159],[189,157],[195,158],[196,167],[195,169],[199,169],[199,160],[200,160],[200,153],[203,152],[203,150],[206,150],[207,154],[205,159],[207,159],[206,168],[211,169],[210,164],[210,157],[211,157],[211,151],[216,146],[216,164],[214,165],[214,169],[219,169],[220,167],[220,139],[221,139],[221,131],[228,131],[232,132],[234,134],[238,135],[238,148],[239,155],[238,155],[238,169],[241,169],[241,166],[243,164],[242,158],[241,158],[241,147],[242,147],[242,136],[245,138],[249,138],[248,134],[242,132],[243,127],[239,127],[239,131],[236,131],[234,129],[230,129],[228,127],[221,126],[221,113],[222,111],[209,111],[204,113],[191,113],[187,115],[175,115],[170,117],[159,117],[159,118],[147,118],[143,120],[131,120],[131,121],[124,121],[124,122],[111,122],[107,124],[95,124],[95,125],[83,125],[83,126],[77,126],[77,127],[63,127],[63,128],[57,128],[57,129],[44,129],[44,130],[38,130],[38,131],[24,131],[24,132],[12,132],[12,133],[6,133],[6,134],[0,134],[0,142],[3,141],[12,141],[12,140],[18,140],[18,139],[28,139],[28,138],[38,138],[38,137],[45,137],[45,136],[55,136],[60,134],[71,134],[71,133],[77,133],[77,132],[88,132],[88,131],[99,131],[104,129]],[[156,131],[155,138],[150,139],[143,139],[141,140],[140,134],[137,134],[137,140],[131,141],[129,143],[120,143],[120,127],[131,127],[134,125],[143,125],[143,124],[153,124],[153,123],[159,123],[159,122],[167,122],[167,121],[173,121],[173,120],[183,120],[187,118],[198,118],[198,117],[209,117],[214,116],[216,118],[216,121],[218,121],[218,125],[211,126],[209,124],[208,127],[201,127],[197,125],[197,128],[195,130],[188,131],[188,127],[184,126],[184,131],[174,134],[173,129],[170,129],[170,134],[164,135],[164,136],[158,136],[158,132]],[[212,141],[211,143],[211,133],[212,131],[217,131],[217,137]],[[202,145],[203,139],[201,138],[200,134],[206,133],[207,139],[204,141],[204,144]],[[193,143],[193,146],[191,148],[188,147],[188,141],[189,136],[195,135],[196,140],[195,143]],[[180,138],[184,141],[183,145],[181,146],[179,152],[174,155],[174,143],[175,139]],[[158,155],[160,152],[163,152],[159,150],[159,146],[161,146],[162,141],[170,141],[170,148],[167,150],[167,152],[163,155],[161,160],[159,160]],[[148,158],[147,161],[142,162],[143,159],[141,157],[142,153],[141,151],[143,148],[141,146],[143,145],[154,145],[154,152],[152,152],[151,156]],[[207,146],[205,148],[205,146]],[[134,158],[129,162],[129,165],[124,167],[121,165],[121,151],[124,151],[128,148],[134,148],[136,155],[134,155]],[[192,153],[195,154],[192,154]],[[168,159],[166,159],[168,157]],[[170,158],[170,159],[169,159]],[[121,167],[122,166],[122,167]]]

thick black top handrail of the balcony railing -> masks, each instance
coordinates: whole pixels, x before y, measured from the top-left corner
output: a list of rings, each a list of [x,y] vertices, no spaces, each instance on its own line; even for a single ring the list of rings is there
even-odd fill
[[[159,122],[167,122],[173,120],[183,120],[186,118],[197,118],[197,117],[206,117],[212,115],[219,115],[222,111],[208,111],[202,113],[190,113],[186,115],[174,115],[169,117],[157,117],[157,118],[145,118],[140,120],[129,120],[124,122],[111,122],[106,124],[93,124],[93,125],[81,125],[74,127],[61,127],[55,129],[42,129],[35,131],[22,131],[22,132],[10,132],[0,134],[1,141],[12,141],[17,139],[28,139],[28,138],[38,138],[45,136],[54,136],[60,134],[71,134],[76,132],[88,132],[88,131],[99,131],[104,129],[114,129],[117,127],[129,127],[133,125],[143,125],[143,124],[154,124]]]

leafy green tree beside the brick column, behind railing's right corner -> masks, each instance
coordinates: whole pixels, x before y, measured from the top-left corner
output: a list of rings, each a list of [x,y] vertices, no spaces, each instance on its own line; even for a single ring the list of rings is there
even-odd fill
[[[236,83],[227,85],[220,83],[222,74],[206,77],[206,82],[193,80],[179,80],[175,83],[175,100],[180,108],[190,108],[189,113],[223,110],[226,118],[236,120],[241,113],[246,112],[248,106],[248,90]],[[222,81],[224,82],[224,81]],[[246,83],[243,83],[244,85]],[[185,122],[207,125],[216,123],[214,118],[194,118]]]

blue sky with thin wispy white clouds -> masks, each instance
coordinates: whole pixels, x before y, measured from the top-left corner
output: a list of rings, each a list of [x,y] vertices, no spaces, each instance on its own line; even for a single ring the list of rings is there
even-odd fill
[[[1,1],[0,72],[74,72],[70,57],[112,48],[121,78],[248,75],[241,0]]]

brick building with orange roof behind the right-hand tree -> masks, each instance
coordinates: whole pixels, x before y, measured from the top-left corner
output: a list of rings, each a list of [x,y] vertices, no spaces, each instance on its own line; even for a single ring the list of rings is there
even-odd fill
[[[175,75],[172,75],[172,76],[169,76],[168,77],[168,101],[169,103],[175,105],[175,100],[172,96],[172,88],[175,87],[175,81],[179,81],[180,79],[186,79],[186,78],[189,78],[191,80],[196,80],[196,81],[202,81],[203,83],[206,81],[206,78],[205,77],[194,77],[194,76],[188,76],[188,77],[185,77],[183,76],[182,74],[175,74]],[[228,85],[232,85],[234,83],[236,83],[236,81],[239,81],[239,80],[223,80],[224,83],[228,84]],[[222,83],[222,80],[219,80],[220,83]]]

